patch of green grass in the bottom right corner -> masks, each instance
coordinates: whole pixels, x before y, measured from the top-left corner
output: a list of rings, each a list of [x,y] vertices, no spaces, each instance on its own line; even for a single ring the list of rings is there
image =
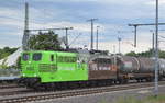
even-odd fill
[[[120,98],[116,103],[165,103],[165,95],[158,96],[147,96],[143,100],[138,100],[133,96],[130,98]]]

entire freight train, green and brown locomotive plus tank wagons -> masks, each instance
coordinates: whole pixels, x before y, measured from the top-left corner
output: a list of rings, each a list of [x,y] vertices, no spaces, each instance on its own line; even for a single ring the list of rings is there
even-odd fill
[[[160,67],[164,77],[165,60],[160,60]],[[127,83],[130,79],[152,81],[154,59],[86,49],[23,52],[21,75],[21,83],[34,89]]]

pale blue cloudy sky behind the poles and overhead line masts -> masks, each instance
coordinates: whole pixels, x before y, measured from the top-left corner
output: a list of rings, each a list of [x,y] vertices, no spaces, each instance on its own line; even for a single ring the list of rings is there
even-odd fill
[[[132,23],[155,22],[155,0],[0,0],[0,48],[22,45],[24,28],[24,2],[29,2],[29,27],[74,27],[69,31],[69,45],[90,48],[90,23],[95,18],[99,27],[99,49],[118,53],[118,37],[121,37],[121,53],[141,53],[152,48],[152,32],[155,26],[138,27],[138,47],[133,47]],[[165,22],[165,0],[160,0],[160,22]],[[165,36],[164,26],[160,35]],[[59,36],[65,31],[55,31]],[[77,38],[75,41],[75,38]],[[160,48],[165,50],[164,38]],[[96,43],[95,43],[96,47]]]

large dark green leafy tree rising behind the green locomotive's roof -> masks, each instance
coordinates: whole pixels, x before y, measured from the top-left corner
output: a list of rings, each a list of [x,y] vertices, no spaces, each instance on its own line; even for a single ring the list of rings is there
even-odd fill
[[[48,33],[40,32],[38,35],[30,37],[29,47],[33,50],[59,50],[62,49],[58,42],[58,35],[50,31]]]

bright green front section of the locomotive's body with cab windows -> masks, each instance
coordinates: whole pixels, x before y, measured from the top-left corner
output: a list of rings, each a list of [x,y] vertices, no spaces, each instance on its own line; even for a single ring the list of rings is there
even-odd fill
[[[42,83],[88,79],[87,64],[77,64],[76,53],[24,52],[21,67],[22,77],[32,78],[34,83],[34,77]]]

